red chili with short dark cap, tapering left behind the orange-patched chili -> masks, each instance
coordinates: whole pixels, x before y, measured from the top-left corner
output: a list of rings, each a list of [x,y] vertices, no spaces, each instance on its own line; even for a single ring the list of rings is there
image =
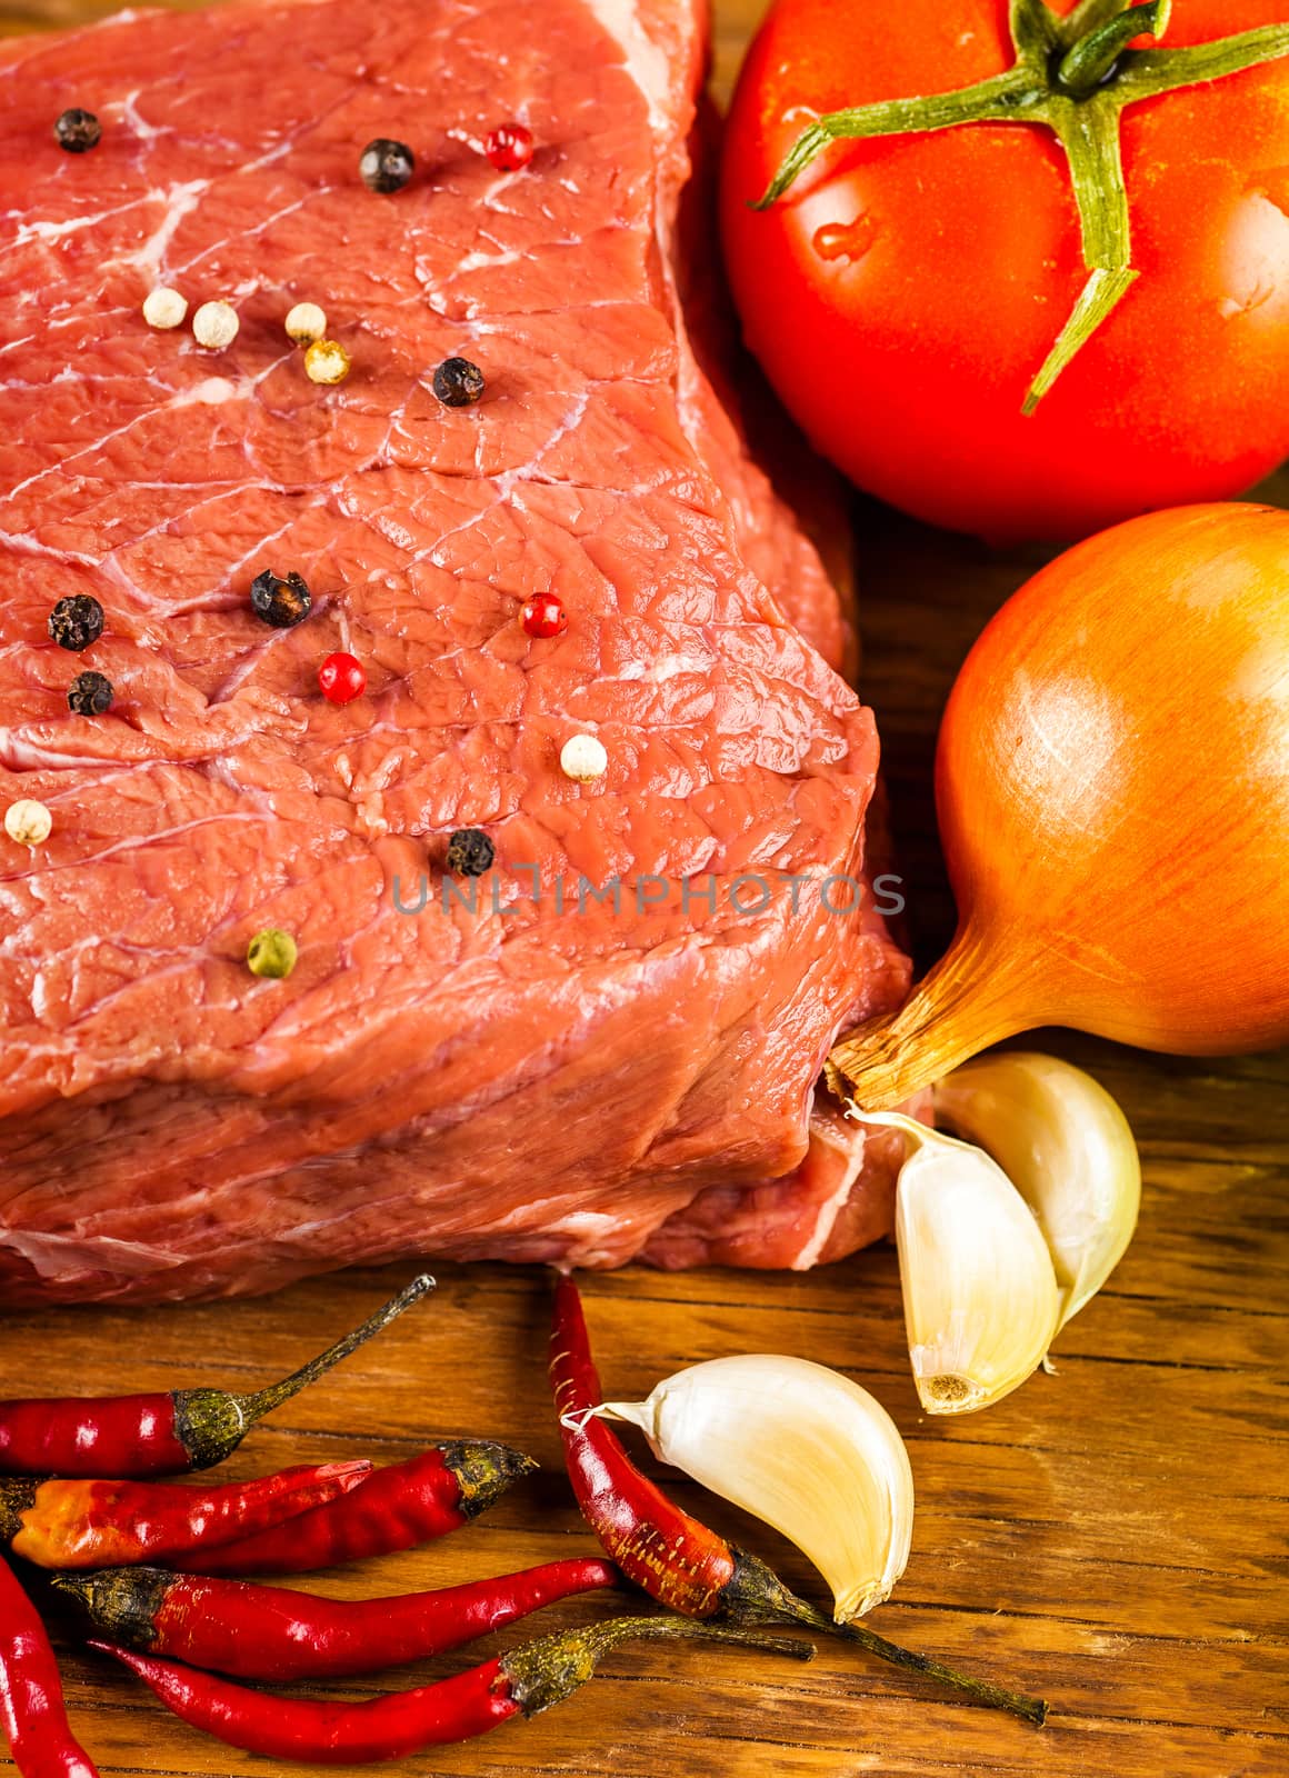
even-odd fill
[[[523,1451],[459,1438],[375,1470],[354,1494],[302,1513],[286,1531],[240,1538],[171,1566],[187,1574],[308,1574],[391,1556],[478,1518],[533,1469]]]

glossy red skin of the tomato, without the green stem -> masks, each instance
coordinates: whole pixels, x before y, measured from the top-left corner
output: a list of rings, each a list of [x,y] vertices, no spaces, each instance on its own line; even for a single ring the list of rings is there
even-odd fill
[[[1166,41],[1285,21],[1289,0],[1177,0]],[[722,169],[749,345],[852,480],[990,541],[1241,493],[1289,455],[1289,60],[1127,108],[1141,276],[1031,418],[1026,389],[1086,277],[1049,130],[841,142],[749,208],[813,114],[1012,62],[1006,0],[779,0]]]

